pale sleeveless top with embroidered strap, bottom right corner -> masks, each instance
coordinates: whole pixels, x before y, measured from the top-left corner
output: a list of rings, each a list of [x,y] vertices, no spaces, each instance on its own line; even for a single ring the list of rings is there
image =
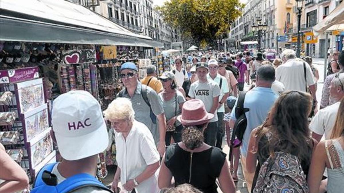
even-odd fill
[[[331,168],[327,168],[327,192],[342,193],[344,190],[344,150],[337,140],[325,141],[326,155]]]

